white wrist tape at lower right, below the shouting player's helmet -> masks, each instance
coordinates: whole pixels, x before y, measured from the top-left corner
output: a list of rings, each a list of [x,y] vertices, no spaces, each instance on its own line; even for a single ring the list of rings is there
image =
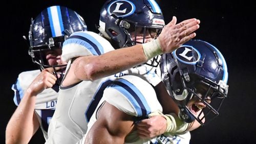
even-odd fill
[[[148,117],[152,117],[155,115],[161,115],[166,119],[167,127],[165,132],[169,132],[169,133],[184,132],[189,127],[189,123],[183,122],[175,113],[163,114],[162,112],[157,111],[149,114]]]

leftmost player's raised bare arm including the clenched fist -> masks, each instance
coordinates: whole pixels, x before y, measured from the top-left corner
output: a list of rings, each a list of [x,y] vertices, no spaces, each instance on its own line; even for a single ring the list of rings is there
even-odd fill
[[[24,93],[23,99],[7,124],[6,143],[28,143],[39,128],[34,112],[36,95],[55,84],[57,78],[52,72],[53,68],[42,70]]]

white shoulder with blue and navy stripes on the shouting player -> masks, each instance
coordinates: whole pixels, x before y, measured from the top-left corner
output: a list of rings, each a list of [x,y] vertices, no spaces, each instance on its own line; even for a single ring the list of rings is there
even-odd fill
[[[103,99],[120,111],[136,117],[162,111],[152,85],[137,76],[126,75],[113,81],[104,90]]]

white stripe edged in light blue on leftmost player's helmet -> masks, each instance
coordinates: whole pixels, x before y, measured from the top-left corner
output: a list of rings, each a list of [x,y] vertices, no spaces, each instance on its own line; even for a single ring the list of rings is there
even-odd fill
[[[52,36],[57,37],[63,35],[61,32],[64,31],[63,21],[61,17],[60,7],[53,6],[47,9],[49,15],[49,21],[52,30]]]

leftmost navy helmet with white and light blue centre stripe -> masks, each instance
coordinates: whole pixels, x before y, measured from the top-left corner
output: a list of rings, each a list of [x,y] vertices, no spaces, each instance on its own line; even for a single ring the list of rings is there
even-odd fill
[[[44,9],[34,20],[31,19],[29,55],[32,61],[38,64],[40,70],[47,67],[66,66],[49,65],[46,54],[56,50],[61,54],[62,43],[70,34],[86,30],[86,23],[75,11],[62,6]]]

